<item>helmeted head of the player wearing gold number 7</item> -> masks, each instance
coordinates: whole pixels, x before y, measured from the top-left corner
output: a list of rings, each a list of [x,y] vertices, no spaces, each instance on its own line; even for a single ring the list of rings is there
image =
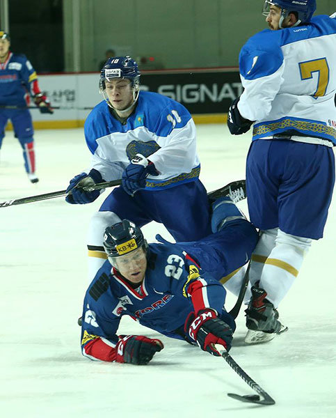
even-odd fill
[[[278,15],[280,13],[278,29],[284,29],[310,22],[315,10],[316,0],[266,0],[262,14],[268,17],[269,15]],[[294,15],[295,22],[291,14]],[[271,27],[271,29],[274,28]]]

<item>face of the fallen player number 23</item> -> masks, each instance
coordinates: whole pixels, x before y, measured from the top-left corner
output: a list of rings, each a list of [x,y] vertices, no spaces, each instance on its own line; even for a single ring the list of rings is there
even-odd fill
[[[147,268],[145,250],[141,247],[125,256],[115,257],[113,265],[127,280],[139,283],[143,281]]]

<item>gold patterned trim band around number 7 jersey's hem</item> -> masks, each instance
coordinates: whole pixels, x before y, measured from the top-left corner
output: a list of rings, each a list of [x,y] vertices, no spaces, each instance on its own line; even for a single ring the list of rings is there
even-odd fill
[[[253,137],[256,135],[271,135],[275,134],[274,131],[278,129],[297,129],[305,134],[309,135],[323,134],[330,135],[336,139],[336,130],[332,126],[324,125],[323,123],[312,122],[312,121],[300,121],[294,119],[282,119],[274,123],[264,123],[253,128]]]

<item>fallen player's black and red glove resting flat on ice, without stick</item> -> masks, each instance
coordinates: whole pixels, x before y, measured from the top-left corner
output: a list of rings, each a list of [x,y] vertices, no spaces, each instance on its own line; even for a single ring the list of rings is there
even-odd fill
[[[163,349],[163,343],[159,339],[147,338],[143,335],[120,335],[115,350],[118,363],[147,364],[154,354]]]

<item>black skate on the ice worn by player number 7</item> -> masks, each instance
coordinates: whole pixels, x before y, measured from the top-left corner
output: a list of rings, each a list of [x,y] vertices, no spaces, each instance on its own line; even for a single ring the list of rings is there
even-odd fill
[[[279,313],[273,304],[266,299],[267,293],[262,288],[252,286],[252,297],[246,309],[246,327],[248,333],[245,342],[248,344],[266,343],[277,334],[288,330],[280,323]]]

